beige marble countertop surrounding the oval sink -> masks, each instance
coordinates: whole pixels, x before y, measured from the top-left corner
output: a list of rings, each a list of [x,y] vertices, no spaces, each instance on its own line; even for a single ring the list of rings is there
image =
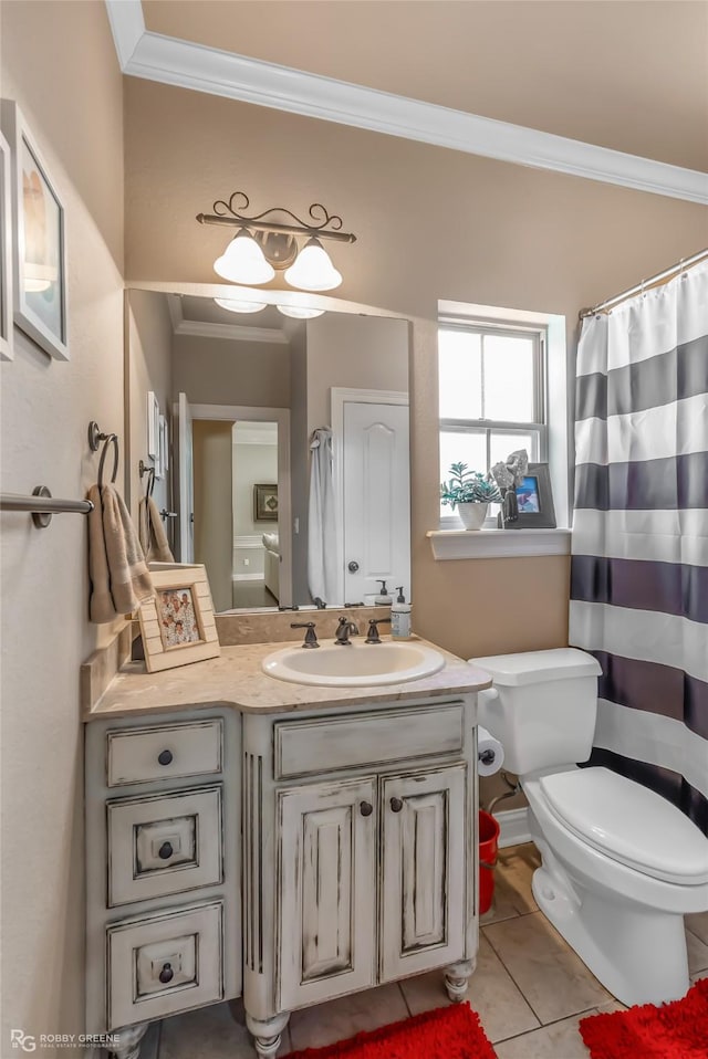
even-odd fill
[[[261,669],[263,658],[279,648],[292,647],[292,643],[222,647],[219,658],[162,673],[147,673],[144,662],[128,662],[97,702],[84,704],[84,721],[214,706],[233,706],[244,713],[283,713],[465,694],[491,685],[487,673],[435,643],[419,642],[442,654],[445,665],[441,670],[421,680],[358,688],[312,686],[267,677]]]

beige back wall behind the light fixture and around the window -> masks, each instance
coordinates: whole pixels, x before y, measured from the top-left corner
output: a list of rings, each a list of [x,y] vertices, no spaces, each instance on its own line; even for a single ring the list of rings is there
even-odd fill
[[[418,631],[462,656],[565,643],[565,558],[433,560],[425,533],[438,520],[437,301],[564,314],[572,347],[582,306],[706,243],[705,211],[135,80],[126,107],[132,279],[212,281],[227,240],[195,212],[243,189],[254,212],[284,203],[303,213],[320,201],[341,213],[357,242],[333,245],[345,276],[335,293],[413,318]]]

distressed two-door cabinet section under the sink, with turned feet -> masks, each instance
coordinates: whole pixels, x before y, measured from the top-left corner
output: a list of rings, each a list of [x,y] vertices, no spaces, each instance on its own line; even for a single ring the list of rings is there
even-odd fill
[[[475,696],[243,714],[243,998],[258,1055],[290,1011],[448,968],[475,918]]]

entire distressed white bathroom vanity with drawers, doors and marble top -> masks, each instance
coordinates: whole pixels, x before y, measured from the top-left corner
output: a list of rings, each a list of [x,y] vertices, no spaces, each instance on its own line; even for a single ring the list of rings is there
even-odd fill
[[[262,672],[275,647],[129,663],[86,713],[87,1028],[119,1059],[241,994],[274,1057],[296,1008],[435,967],[466,992],[489,681],[441,652],[407,683],[303,686]]]

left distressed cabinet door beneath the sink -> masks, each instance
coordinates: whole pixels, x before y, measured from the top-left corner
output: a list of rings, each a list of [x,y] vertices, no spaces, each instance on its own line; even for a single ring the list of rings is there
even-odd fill
[[[374,984],[376,782],[281,791],[282,1011]]]

